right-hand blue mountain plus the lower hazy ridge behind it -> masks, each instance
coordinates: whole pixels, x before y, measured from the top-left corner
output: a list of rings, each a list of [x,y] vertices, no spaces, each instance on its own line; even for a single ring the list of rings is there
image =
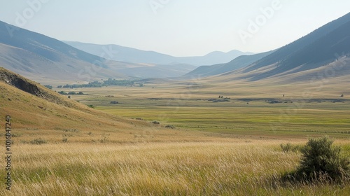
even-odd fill
[[[335,72],[332,77],[346,76],[350,74],[349,55],[350,13],[277,50],[243,55],[226,64],[200,66],[186,76],[206,77],[225,73],[216,78],[255,81],[290,75],[284,79],[297,81],[325,77],[319,75],[325,75],[322,71],[327,70]],[[337,66],[337,70],[326,65]],[[307,72],[296,74],[302,71]]]

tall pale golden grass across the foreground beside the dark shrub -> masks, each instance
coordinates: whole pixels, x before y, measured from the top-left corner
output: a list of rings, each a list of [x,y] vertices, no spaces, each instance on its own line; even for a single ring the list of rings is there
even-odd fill
[[[0,195],[346,195],[332,184],[286,184],[298,153],[276,141],[13,146],[13,188]]]

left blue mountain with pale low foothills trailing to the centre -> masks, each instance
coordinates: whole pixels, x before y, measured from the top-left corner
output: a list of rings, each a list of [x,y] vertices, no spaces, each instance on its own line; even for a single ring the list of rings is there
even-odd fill
[[[104,50],[99,55],[109,57],[110,52]],[[196,68],[187,64],[116,62],[1,21],[0,66],[40,83],[80,83],[102,78],[177,77]]]

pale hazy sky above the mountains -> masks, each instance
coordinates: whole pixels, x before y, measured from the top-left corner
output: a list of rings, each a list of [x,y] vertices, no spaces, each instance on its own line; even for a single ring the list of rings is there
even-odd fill
[[[349,0],[0,0],[10,25],[177,57],[274,50],[349,12]]]

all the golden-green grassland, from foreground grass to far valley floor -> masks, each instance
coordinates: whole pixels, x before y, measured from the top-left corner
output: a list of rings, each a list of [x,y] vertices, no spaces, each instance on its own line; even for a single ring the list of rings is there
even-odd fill
[[[223,94],[211,85],[186,84],[67,91],[84,92],[71,98],[96,108],[85,114],[24,97],[36,103],[28,106],[35,120],[30,112],[2,111],[13,116],[14,143],[12,190],[1,188],[0,195],[350,193],[349,181],[281,179],[295,170],[301,153],[283,152],[280,144],[301,146],[308,137],[327,134],[350,156],[346,98],[335,102],[338,97],[314,94],[303,99],[299,92],[283,97],[274,88],[260,96],[248,90]],[[230,102],[209,101],[219,95]],[[276,100],[281,103],[269,103]]]

